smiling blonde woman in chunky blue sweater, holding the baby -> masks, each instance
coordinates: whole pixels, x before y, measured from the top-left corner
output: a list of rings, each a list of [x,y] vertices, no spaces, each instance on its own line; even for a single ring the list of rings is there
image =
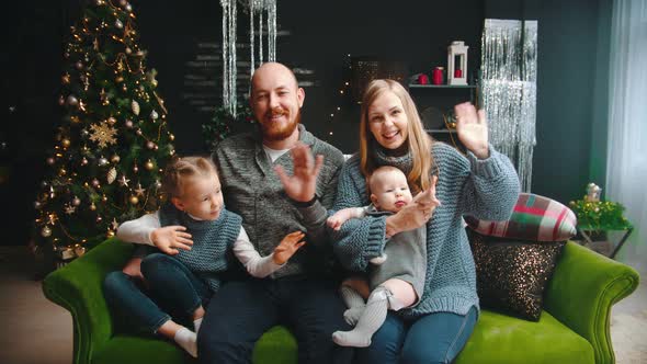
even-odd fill
[[[359,350],[361,363],[450,363],[476,325],[476,274],[462,216],[507,219],[520,187],[510,160],[488,143],[484,112],[469,103],[454,110],[466,157],[428,136],[398,82],[374,80],[364,93],[360,151],[342,167],[333,211],[367,205],[366,177],[382,166],[400,169],[418,195],[397,214],[351,219],[330,230],[336,254],[345,269],[366,272],[391,237],[425,225],[427,266],[421,297],[397,303],[405,306],[397,312],[390,298],[399,296],[393,292],[398,286],[367,303],[354,289],[342,289],[349,308],[389,309],[371,345]]]

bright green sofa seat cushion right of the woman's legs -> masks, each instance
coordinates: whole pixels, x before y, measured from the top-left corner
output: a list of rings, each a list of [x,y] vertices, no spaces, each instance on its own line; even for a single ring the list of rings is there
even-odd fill
[[[481,310],[472,337],[454,363],[594,362],[591,344],[548,312],[538,322],[531,322]]]

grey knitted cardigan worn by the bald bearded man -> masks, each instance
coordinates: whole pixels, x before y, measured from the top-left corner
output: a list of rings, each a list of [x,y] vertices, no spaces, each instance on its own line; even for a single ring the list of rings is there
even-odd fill
[[[299,140],[308,145],[315,156],[324,156],[317,178],[318,201],[308,207],[295,206],[273,170],[274,164],[280,164],[292,174],[292,156],[284,153],[272,163],[263,150],[259,133],[225,139],[213,155],[227,208],[242,216],[242,226],[261,255],[272,253],[287,234],[306,232],[306,246],[272,277],[329,273],[333,262],[326,218],[327,208],[332,207],[334,200],[343,155],[317,139],[303,125],[299,124],[298,128]]]

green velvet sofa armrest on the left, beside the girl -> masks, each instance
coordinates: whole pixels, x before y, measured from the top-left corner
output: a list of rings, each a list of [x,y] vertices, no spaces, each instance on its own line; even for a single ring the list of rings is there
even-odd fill
[[[72,316],[73,363],[90,363],[93,351],[111,338],[113,327],[103,298],[103,278],[121,270],[132,251],[132,244],[109,239],[43,281],[45,296]]]

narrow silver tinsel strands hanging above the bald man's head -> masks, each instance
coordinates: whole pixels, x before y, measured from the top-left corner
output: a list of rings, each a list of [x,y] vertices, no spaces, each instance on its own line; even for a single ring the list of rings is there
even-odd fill
[[[236,117],[238,106],[236,80],[238,78],[236,58],[236,31],[238,26],[238,7],[240,0],[220,0],[223,8],[223,105]],[[266,13],[268,61],[276,60],[276,0],[248,0],[249,5],[249,43],[250,79],[254,69],[263,64],[263,13]],[[254,61],[254,15],[259,19],[258,42],[259,64]]]

